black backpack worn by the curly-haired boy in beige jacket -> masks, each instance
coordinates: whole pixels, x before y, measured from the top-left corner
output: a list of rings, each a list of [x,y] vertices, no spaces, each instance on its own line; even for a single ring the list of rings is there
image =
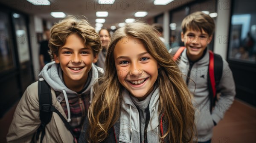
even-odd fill
[[[96,67],[99,77],[102,77],[103,74],[99,72],[98,68]],[[37,129],[37,132],[32,137],[32,143],[39,140],[39,135],[41,133],[41,140],[40,143],[43,142],[44,135],[45,135],[45,127],[50,122],[52,118],[52,112],[55,112],[61,117],[61,120],[63,121],[66,128],[71,132],[71,134],[74,137],[73,143],[76,143],[76,138],[73,134],[72,128],[70,124],[67,122],[65,117],[57,110],[54,106],[52,106],[52,93],[51,93],[51,87],[48,85],[48,83],[43,81],[38,81],[38,98],[39,98],[39,109],[40,109],[40,120],[41,124],[39,128]],[[36,139],[36,140],[34,140]]]

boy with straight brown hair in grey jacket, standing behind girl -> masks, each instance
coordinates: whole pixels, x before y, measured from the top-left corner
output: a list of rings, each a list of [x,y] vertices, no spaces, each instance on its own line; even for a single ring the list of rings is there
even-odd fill
[[[181,28],[181,39],[186,48],[180,54],[178,66],[190,92],[194,95],[198,143],[211,143],[213,127],[223,119],[236,95],[233,74],[227,61],[222,58],[222,76],[216,87],[220,97],[212,109],[210,103],[212,99],[209,96],[210,89],[207,84],[209,79],[207,45],[211,42],[215,30],[214,20],[209,15],[198,11],[185,17]],[[173,51],[175,50],[171,49],[169,52],[175,54]]]

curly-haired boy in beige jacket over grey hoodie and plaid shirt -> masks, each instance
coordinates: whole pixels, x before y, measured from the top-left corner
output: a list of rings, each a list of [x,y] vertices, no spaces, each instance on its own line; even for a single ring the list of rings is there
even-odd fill
[[[73,135],[55,112],[46,125],[43,142],[71,143],[79,138],[93,94],[93,83],[103,69],[95,66],[101,50],[99,34],[86,20],[68,16],[50,30],[50,54],[54,61],[39,74],[51,87],[52,105],[67,120]],[[38,81],[24,92],[16,108],[7,142],[30,142],[41,124]],[[39,142],[40,140],[37,140]]]

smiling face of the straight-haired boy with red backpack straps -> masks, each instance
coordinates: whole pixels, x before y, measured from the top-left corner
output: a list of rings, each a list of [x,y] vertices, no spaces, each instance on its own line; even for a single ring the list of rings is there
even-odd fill
[[[195,61],[203,55],[204,49],[212,40],[212,35],[209,36],[203,29],[202,33],[188,29],[186,33],[181,32],[181,40],[186,46],[189,59]]]

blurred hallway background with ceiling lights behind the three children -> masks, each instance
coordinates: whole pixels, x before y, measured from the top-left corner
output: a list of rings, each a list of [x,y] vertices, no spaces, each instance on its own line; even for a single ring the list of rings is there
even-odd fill
[[[26,87],[38,80],[44,31],[67,15],[114,32],[135,20],[163,27],[169,48],[183,46],[181,22],[203,11],[215,20],[209,49],[229,63],[236,100],[215,127],[214,143],[256,143],[256,0],[1,0],[0,143]],[[228,71],[227,71],[228,72]],[[224,73],[225,74],[225,73]],[[26,107],[19,107],[25,109]]]

